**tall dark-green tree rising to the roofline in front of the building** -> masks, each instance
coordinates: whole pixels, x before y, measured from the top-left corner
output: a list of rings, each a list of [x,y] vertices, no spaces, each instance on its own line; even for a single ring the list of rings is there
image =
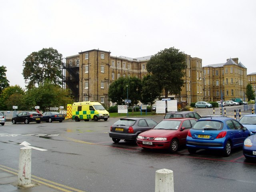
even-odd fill
[[[158,87],[164,89],[165,98],[168,98],[168,93],[180,94],[186,69],[184,52],[174,47],[161,50],[150,58],[146,69],[156,79]]]

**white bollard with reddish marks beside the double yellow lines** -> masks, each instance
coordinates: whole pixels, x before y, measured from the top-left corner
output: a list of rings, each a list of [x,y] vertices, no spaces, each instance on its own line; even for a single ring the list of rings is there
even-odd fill
[[[31,184],[31,148],[20,148],[18,185],[30,186]]]

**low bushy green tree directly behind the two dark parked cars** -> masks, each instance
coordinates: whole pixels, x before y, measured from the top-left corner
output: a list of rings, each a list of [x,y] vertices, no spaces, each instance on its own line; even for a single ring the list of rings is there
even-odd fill
[[[62,89],[48,81],[44,85],[31,88],[26,92],[25,103],[30,110],[40,106],[40,110],[48,111],[50,107],[67,106],[73,103],[69,89]]]

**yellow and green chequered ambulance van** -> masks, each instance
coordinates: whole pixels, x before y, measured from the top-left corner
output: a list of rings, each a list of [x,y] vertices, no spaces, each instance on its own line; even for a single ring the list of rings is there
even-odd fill
[[[83,101],[72,104],[72,119],[76,122],[80,120],[98,121],[99,119],[108,120],[109,112],[99,102]]]

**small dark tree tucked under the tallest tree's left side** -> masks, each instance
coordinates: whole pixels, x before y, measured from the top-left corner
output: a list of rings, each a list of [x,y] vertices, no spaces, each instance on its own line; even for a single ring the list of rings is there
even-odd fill
[[[158,83],[150,74],[144,76],[142,79],[142,94],[141,102],[151,106],[154,104],[156,98],[162,94],[162,90],[158,88]]]

